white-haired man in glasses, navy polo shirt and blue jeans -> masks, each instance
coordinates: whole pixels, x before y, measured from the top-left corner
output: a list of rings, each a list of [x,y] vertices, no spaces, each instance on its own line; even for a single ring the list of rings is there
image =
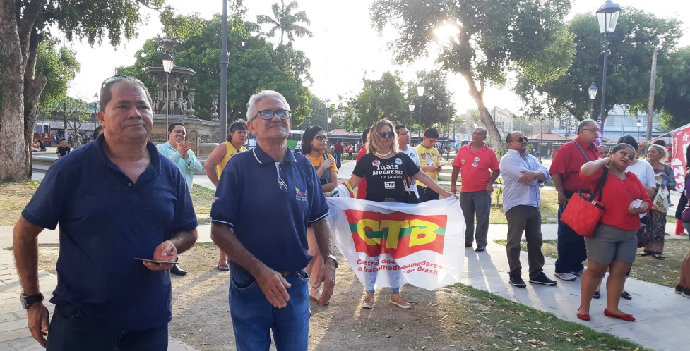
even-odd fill
[[[227,162],[211,208],[211,238],[230,257],[230,316],[237,350],[268,350],[270,333],[278,350],[307,350],[309,289],[304,267],[307,223],[314,228],[324,283],[319,304],[335,285],[328,204],[314,166],[293,154],[290,105],[272,90],[254,94],[247,104],[247,126],[256,135],[251,152]]]

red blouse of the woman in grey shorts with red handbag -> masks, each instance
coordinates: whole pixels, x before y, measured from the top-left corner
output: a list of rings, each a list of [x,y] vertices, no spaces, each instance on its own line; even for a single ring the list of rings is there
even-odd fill
[[[597,181],[603,174],[604,168],[599,168],[599,171],[591,176],[584,176],[582,173],[580,173],[580,176],[585,183],[585,187],[590,191],[594,191]],[[622,230],[636,230],[640,228],[640,216],[638,214],[630,214],[628,207],[634,199],[641,199],[647,202],[650,202],[650,199],[645,187],[632,172],[625,172],[625,175],[627,178],[624,180],[614,176],[611,172],[606,176],[604,193],[601,199],[604,203],[604,216],[601,221]],[[651,208],[650,205],[647,211]]]

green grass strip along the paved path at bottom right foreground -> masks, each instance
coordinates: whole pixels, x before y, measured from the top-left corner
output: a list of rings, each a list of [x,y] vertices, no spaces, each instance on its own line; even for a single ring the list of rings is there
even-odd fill
[[[469,307],[452,311],[458,331],[482,335],[488,348],[501,350],[650,350],[629,340],[601,333],[575,322],[467,285],[453,290],[468,295]],[[490,333],[487,333],[490,331]],[[488,334],[488,335],[485,335]]]

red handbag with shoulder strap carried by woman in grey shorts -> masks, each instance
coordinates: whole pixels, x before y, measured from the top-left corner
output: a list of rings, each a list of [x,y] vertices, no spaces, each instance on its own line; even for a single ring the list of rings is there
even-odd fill
[[[604,216],[604,203],[601,201],[604,192],[604,182],[606,175],[609,173],[609,168],[604,167],[604,174],[599,178],[594,192],[578,191],[570,198],[566,209],[561,214],[561,222],[566,223],[567,226],[575,230],[575,233],[586,238],[591,238],[594,229]],[[597,197],[598,193],[598,199]]]

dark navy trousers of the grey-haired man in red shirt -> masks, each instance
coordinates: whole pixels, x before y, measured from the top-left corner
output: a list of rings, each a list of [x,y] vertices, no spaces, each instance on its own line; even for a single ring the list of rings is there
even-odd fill
[[[570,199],[572,192],[566,192]],[[575,233],[575,230],[561,222],[561,214],[565,207],[558,206],[558,259],[556,259],[556,273],[578,272],[585,268],[582,262],[587,259],[585,237]]]

